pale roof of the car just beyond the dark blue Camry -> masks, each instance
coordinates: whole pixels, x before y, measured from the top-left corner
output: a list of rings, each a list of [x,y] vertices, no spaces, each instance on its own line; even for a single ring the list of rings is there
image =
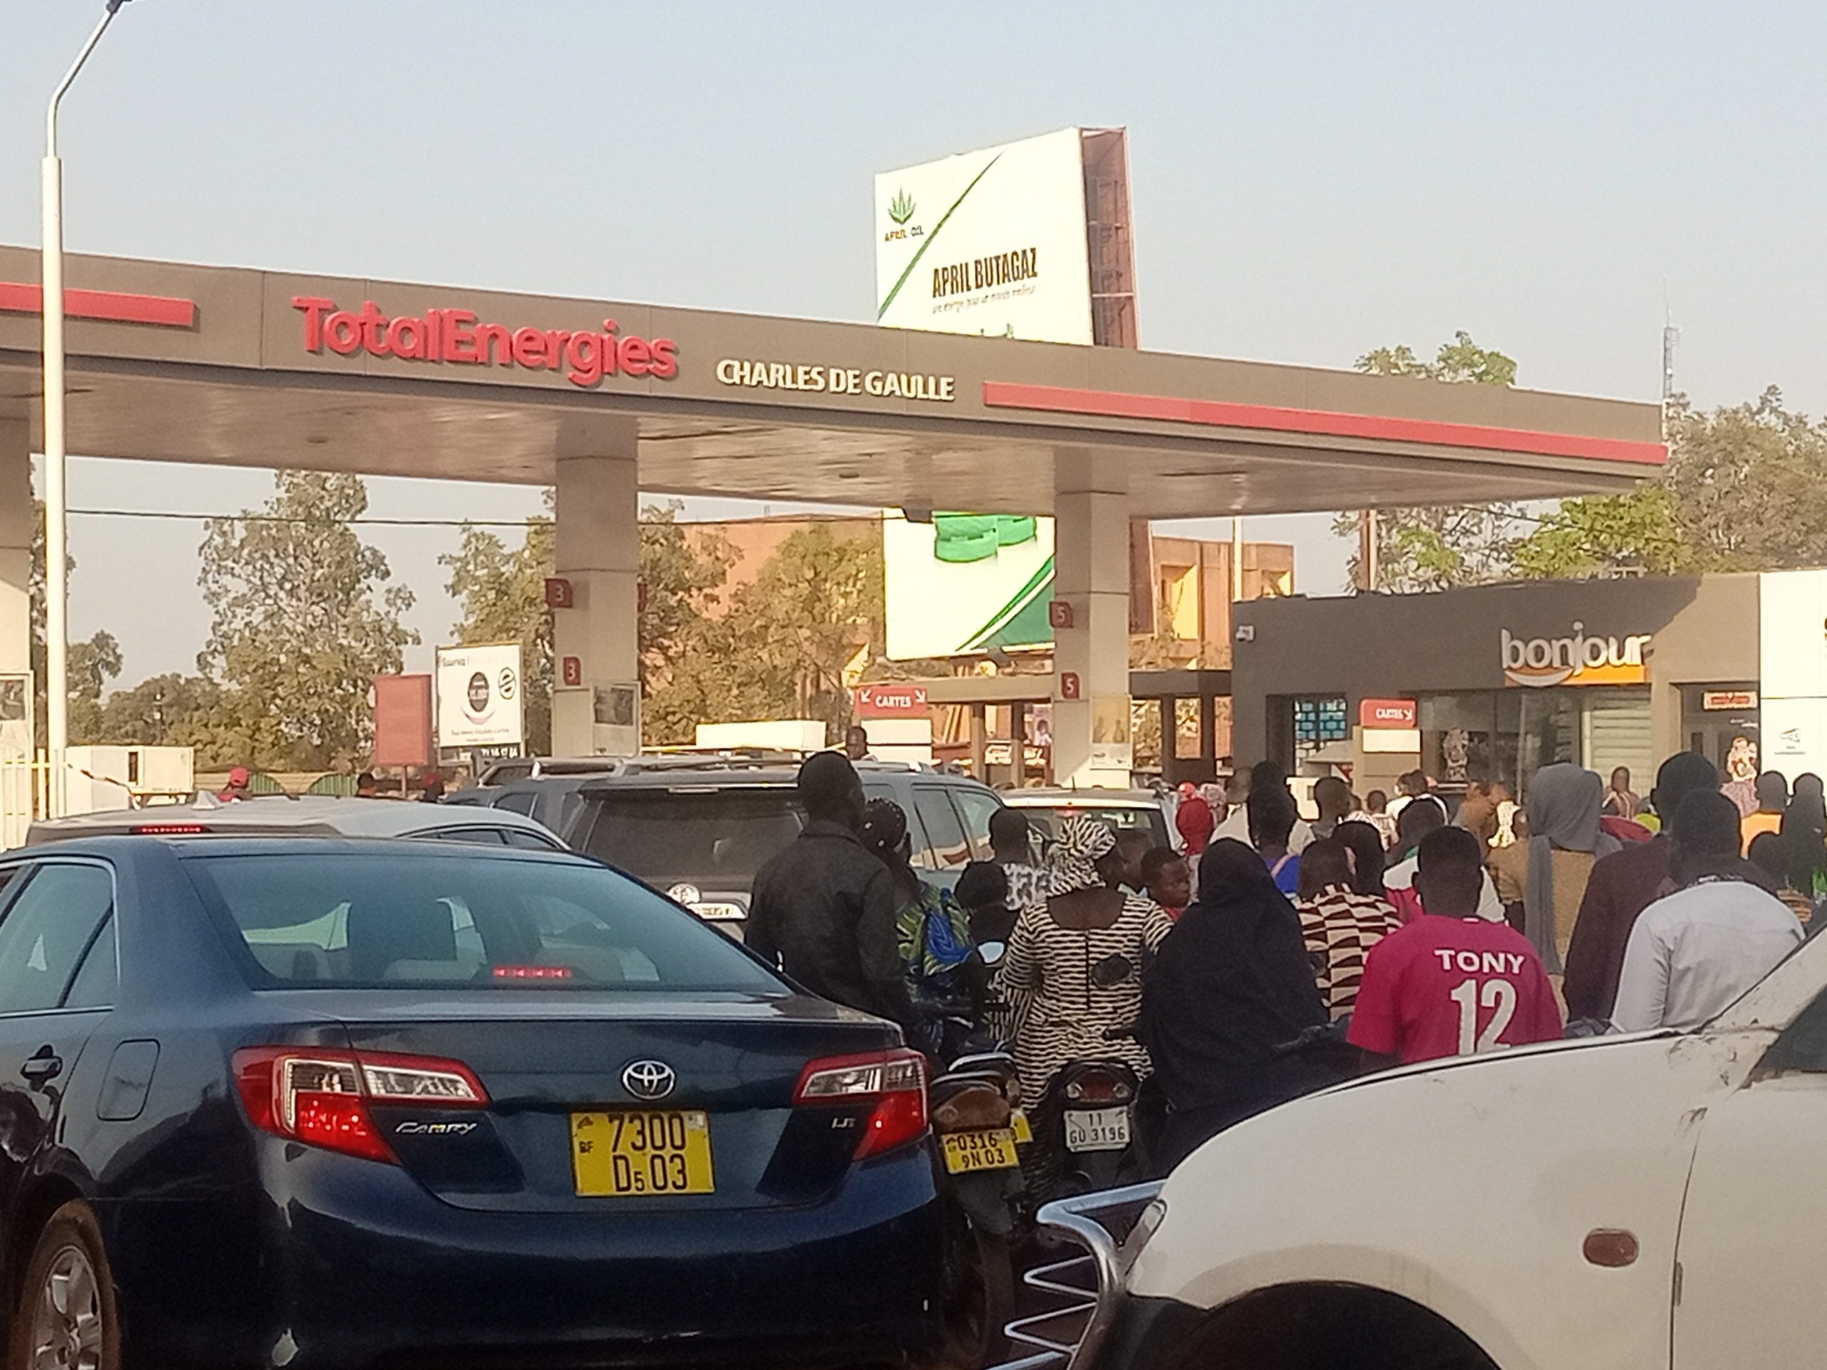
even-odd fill
[[[172,829],[201,829],[179,833]],[[203,798],[195,804],[170,804],[152,809],[108,809],[69,818],[35,822],[27,846],[68,842],[100,835],[217,837],[234,833],[270,833],[298,837],[409,837],[446,827],[512,827],[555,840],[541,822],[510,809],[473,806],[413,804],[382,798],[336,798],[331,795],[256,796],[225,804]],[[148,831],[153,829],[153,831]]]

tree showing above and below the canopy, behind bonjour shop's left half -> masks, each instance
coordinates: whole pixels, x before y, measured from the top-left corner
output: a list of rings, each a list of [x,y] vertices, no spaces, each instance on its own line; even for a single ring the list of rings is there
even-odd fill
[[[1407,343],[1378,347],[1356,362],[1378,376],[1418,376],[1469,385],[1515,385],[1516,362],[1480,347],[1465,331],[1442,343],[1432,362],[1423,362]],[[1515,504],[1434,506],[1378,511],[1378,585],[1385,590],[1443,590],[1500,579],[1509,570]],[[1332,532],[1357,535],[1359,513],[1341,513]],[[1359,581],[1357,553],[1350,559],[1352,583]]]

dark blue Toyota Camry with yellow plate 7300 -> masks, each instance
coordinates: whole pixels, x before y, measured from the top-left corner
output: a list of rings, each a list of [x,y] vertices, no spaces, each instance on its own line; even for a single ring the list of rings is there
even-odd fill
[[[921,1061],[563,853],[0,859],[9,1366],[895,1365]]]

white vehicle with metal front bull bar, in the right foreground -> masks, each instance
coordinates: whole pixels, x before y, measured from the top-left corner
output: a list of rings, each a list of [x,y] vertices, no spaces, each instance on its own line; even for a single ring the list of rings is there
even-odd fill
[[[1164,1186],[1056,1204],[1041,1220],[1091,1246],[1102,1288],[1076,1348],[1021,1337],[1029,1365],[1827,1365],[1823,985],[1827,937],[1699,1032],[1367,1078]],[[1122,1246],[1096,1222],[1142,1204]]]

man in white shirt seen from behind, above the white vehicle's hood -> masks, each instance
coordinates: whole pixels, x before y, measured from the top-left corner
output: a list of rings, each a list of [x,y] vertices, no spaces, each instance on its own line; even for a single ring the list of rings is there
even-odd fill
[[[1642,910],[1624,948],[1615,1032],[1697,1028],[1801,944],[1796,915],[1752,882],[1739,851],[1737,806],[1688,795],[1670,827],[1672,879],[1683,888]]]

